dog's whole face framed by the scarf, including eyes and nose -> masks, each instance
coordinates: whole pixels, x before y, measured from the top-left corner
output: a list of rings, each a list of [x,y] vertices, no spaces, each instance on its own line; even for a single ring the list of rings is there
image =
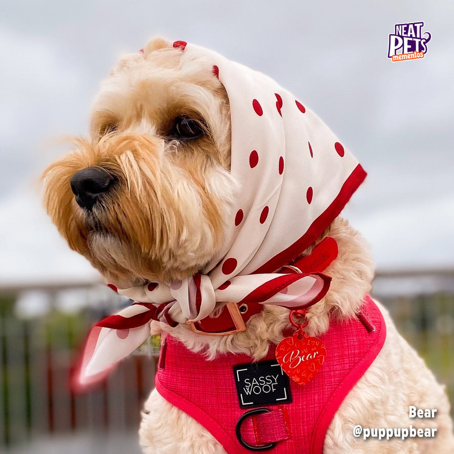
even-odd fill
[[[219,249],[237,187],[230,111],[203,62],[154,39],[120,60],[91,137],[45,172],[45,205],[72,249],[123,285],[194,274]]]

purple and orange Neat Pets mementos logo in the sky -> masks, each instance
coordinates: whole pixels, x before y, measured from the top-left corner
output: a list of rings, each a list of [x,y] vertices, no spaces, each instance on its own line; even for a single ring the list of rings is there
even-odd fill
[[[393,61],[424,58],[431,35],[429,32],[423,34],[423,27],[424,22],[396,24],[394,34],[389,35],[388,58]]]

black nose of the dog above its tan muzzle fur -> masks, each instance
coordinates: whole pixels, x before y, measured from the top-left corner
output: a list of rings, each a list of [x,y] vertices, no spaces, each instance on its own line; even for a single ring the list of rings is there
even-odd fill
[[[91,211],[99,196],[112,187],[114,177],[101,167],[87,167],[71,178],[71,191],[79,207]]]

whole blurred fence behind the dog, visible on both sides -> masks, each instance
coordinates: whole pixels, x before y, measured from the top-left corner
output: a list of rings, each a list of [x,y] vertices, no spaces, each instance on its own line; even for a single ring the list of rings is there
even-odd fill
[[[391,296],[383,291],[387,285],[386,277],[382,279],[384,283],[377,289],[382,295],[377,296],[390,309],[399,331],[416,347],[439,380],[447,384],[452,402],[454,292],[439,289],[425,295],[396,292]],[[93,300],[92,288],[79,290],[80,298]],[[152,350],[148,355],[131,355],[100,388],[87,394],[72,394],[67,385],[74,352],[88,328],[114,310],[111,300],[115,295],[109,292],[101,298],[95,292],[95,299],[102,300],[101,304],[97,301],[89,307],[81,305],[74,313],[68,312],[71,304],[64,303],[68,291],[48,288],[41,292],[51,303],[41,314],[33,314],[32,307],[32,314],[26,319],[23,315],[27,313],[27,304],[24,305],[22,297],[10,292],[2,299],[0,294],[0,452],[36,453],[38,449],[30,448],[30,443],[43,437],[52,440],[90,432],[97,437],[114,434],[124,438],[135,434],[140,409],[154,385]],[[33,298],[29,304],[36,304]],[[136,443],[135,435],[132,440]],[[58,452],[65,450],[69,454],[65,443],[69,441]],[[17,450],[20,446],[25,450]],[[135,448],[137,451],[122,447],[105,452],[139,452],[138,446]],[[49,449],[44,448],[45,451]],[[80,447],[71,452],[81,451],[101,452]]]

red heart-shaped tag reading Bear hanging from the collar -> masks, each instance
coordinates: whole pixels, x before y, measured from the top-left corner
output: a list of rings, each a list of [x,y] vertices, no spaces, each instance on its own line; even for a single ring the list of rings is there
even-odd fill
[[[276,359],[292,380],[305,385],[317,374],[326,356],[323,342],[299,330],[276,347]]]

